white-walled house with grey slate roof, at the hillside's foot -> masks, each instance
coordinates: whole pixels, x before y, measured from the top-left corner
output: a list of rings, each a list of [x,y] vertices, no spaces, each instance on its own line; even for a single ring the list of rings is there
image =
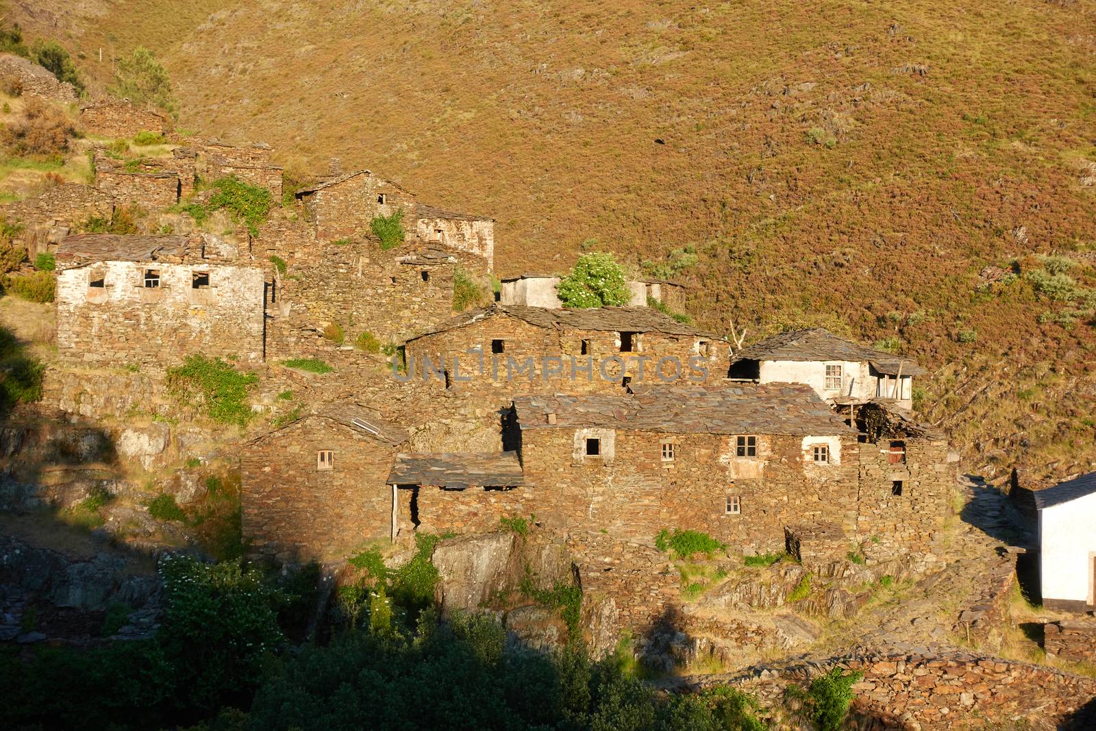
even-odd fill
[[[783,332],[733,353],[728,377],[758,384],[809,384],[831,403],[883,399],[911,409],[913,377],[924,373],[910,358],[812,328]]]

